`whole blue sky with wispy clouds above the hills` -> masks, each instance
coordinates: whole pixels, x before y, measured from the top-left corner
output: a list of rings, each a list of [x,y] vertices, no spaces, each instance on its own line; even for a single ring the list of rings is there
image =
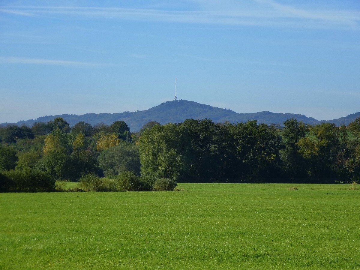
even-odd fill
[[[360,1],[0,1],[0,122],[145,110],[360,111]]]

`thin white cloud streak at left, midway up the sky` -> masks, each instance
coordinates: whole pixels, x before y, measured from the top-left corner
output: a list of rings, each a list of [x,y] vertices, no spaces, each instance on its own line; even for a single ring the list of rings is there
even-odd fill
[[[0,64],[41,64],[41,65],[51,65],[51,66],[72,66],[72,67],[104,66],[104,64],[101,63],[39,59],[39,58],[24,58],[24,57],[0,57]]]

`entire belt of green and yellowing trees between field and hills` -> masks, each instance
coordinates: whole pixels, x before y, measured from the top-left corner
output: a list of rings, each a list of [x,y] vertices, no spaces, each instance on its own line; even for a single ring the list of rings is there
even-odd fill
[[[125,172],[150,183],[357,182],[360,118],[340,127],[308,125],[295,118],[282,127],[256,120],[187,119],[166,125],[149,122],[131,133],[124,121],[70,127],[57,117],[31,128],[0,128],[0,189],[6,189],[4,177],[34,191],[31,186],[40,182],[48,181],[49,188],[37,190],[50,190],[55,180],[78,181],[88,174],[111,178]]]

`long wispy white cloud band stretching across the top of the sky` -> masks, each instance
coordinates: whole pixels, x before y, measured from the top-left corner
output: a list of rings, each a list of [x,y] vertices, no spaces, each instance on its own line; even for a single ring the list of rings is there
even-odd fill
[[[253,3],[253,4],[249,4]],[[246,5],[228,4],[223,9],[162,10],[82,6],[3,6],[0,12],[32,16],[73,16],[83,18],[182,22],[223,25],[359,28],[359,10],[299,8],[273,0],[253,0]]]

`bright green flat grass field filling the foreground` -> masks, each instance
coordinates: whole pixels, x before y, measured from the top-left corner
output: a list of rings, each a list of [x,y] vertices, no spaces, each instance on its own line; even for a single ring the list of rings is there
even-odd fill
[[[360,269],[360,190],[0,194],[0,269]]]

